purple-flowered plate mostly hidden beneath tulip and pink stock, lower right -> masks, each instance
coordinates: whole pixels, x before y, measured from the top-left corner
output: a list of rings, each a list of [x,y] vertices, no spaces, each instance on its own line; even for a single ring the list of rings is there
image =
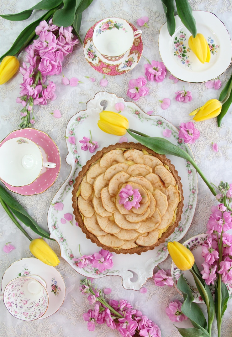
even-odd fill
[[[201,264],[204,262],[204,258],[201,255],[201,252],[202,252],[201,246],[204,244],[206,238],[207,238],[207,234],[199,234],[199,235],[196,235],[196,236],[190,238],[189,240],[187,240],[183,243],[183,245],[185,247],[188,246],[190,248],[190,250],[192,251],[192,253],[194,255],[194,258],[195,258],[196,265],[197,265],[197,267],[200,271],[202,270]],[[174,262],[172,262],[172,264],[171,264],[171,275],[174,279],[174,285],[175,285],[177,290],[178,290],[177,281],[178,281],[181,274],[184,276],[187,284],[189,285],[190,289],[192,290],[194,302],[204,303],[203,300],[202,300],[202,297],[200,296],[200,294],[198,292],[198,289],[196,287],[196,284],[195,284],[195,281],[194,281],[194,278],[193,278],[193,275],[191,274],[191,272],[189,270],[185,270],[184,272],[181,271],[180,269],[178,269],[176,267]],[[227,287],[228,287],[229,293],[231,293],[232,287],[230,287],[229,285],[227,285]],[[211,292],[213,294],[214,293],[214,287],[210,286],[210,288],[211,288]]]

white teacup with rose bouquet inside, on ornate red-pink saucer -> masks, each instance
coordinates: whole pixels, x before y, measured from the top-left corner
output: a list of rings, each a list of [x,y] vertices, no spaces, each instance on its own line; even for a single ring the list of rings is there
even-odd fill
[[[119,18],[107,18],[95,26],[92,42],[105,58],[118,60],[131,49],[134,39],[141,35],[142,31],[134,32],[127,21]]]

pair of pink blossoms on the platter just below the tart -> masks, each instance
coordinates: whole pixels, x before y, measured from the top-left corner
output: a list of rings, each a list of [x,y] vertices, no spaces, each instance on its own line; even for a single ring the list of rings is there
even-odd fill
[[[75,265],[79,268],[93,267],[100,273],[113,267],[113,254],[108,250],[101,249],[98,253],[92,255],[82,255],[79,258],[73,258]]]

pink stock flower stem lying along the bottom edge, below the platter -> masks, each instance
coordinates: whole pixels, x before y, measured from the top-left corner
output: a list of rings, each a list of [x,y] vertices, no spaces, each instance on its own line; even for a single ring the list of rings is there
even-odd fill
[[[161,337],[160,328],[126,300],[109,300],[107,303],[101,295],[101,290],[93,288],[87,282],[80,287],[80,290],[84,295],[91,293],[88,296],[90,304],[95,300],[94,309],[89,309],[83,314],[84,320],[88,322],[89,331],[94,331],[95,324],[105,323],[111,329],[119,331],[123,337],[132,337],[135,333],[144,337]]]

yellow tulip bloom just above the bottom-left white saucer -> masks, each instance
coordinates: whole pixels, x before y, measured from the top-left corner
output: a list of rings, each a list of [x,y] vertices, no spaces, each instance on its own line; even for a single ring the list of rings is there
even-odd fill
[[[60,262],[56,253],[43,239],[32,240],[29,248],[31,253],[46,265],[55,267]]]

